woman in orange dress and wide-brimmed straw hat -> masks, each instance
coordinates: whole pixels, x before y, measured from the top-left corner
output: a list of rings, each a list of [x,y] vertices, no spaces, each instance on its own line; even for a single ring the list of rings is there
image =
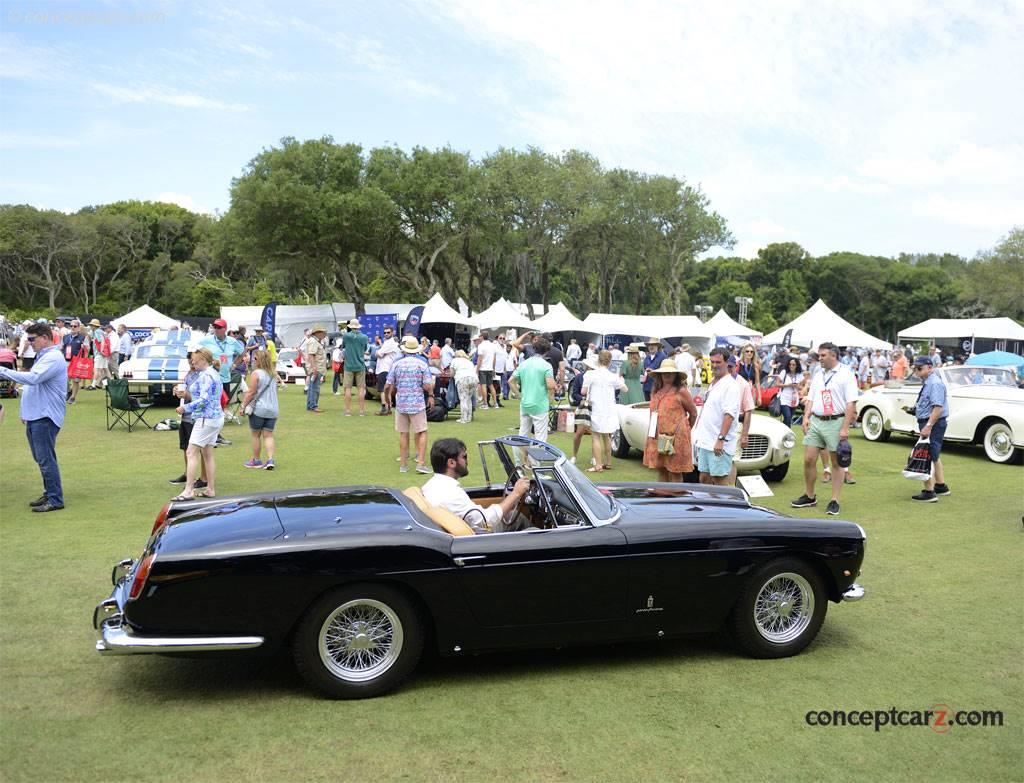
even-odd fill
[[[657,414],[657,432],[675,434],[674,454],[657,451],[657,438],[647,438],[643,450],[643,464],[655,468],[658,481],[682,481],[683,474],[693,470],[693,448],[690,446],[690,429],[697,419],[697,408],[686,388],[686,374],[676,368],[673,359],[665,359],[654,374],[650,394],[651,415]]]

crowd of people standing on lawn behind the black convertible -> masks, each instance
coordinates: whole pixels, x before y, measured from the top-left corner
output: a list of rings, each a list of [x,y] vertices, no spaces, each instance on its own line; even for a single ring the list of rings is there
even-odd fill
[[[588,471],[613,468],[610,438],[618,429],[616,405],[649,401],[644,466],[664,482],[682,481],[697,472],[701,482],[731,485],[756,403],[762,388],[771,383],[778,387],[783,423],[804,431],[805,491],[792,505],[817,505],[820,460],[830,488],[825,511],[835,515],[840,512],[843,486],[855,483],[849,470],[849,431],[856,426],[859,391],[913,373],[924,382],[915,412],[922,434],[930,436],[936,466],[933,479],[914,499],[934,502],[949,492],[940,459],[948,411],[944,387],[931,373],[941,360],[935,352],[841,350],[822,343],[812,352],[769,354],[748,343],[715,348],[705,356],[694,347],[671,346],[656,337],[630,343],[625,350],[614,343],[606,349],[593,343],[584,348],[570,339],[563,350],[552,335],[532,332],[518,337],[481,332],[469,346],[456,348],[451,338],[443,344],[410,335],[399,339],[394,327],[385,327],[371,340],[357,318],[344,325],[334,345],[328,344],[327,330],[317,324],[299,346],[306,372],[306,409],[323,412],[319,393],[330,366],[334,393],[344,394],[344,416],[366,416],[368,376],[374,375],[380,394],[376,415],[394,418],[402,473],[413,467],[428,475],[441,473],[438,466],[449,476],[461,470],[459,441],[446,443],[436,453],[432,450],[428,461],[427,427],[433,411],[440,410],[444,418],[458,407],[458,422],[468,424],[478,411],[517,400],[519,434],[544,441],[549,437],[552,407],[567,398],[574,412],[571,461],[577,461],[589,436]],[[123,325],[101,324],[97,319],[83,324],[75,318],[67,325],[63,319],[52,324],[27,321],[20,327],[16,351],[6,343],[0,345],[0,380],[24,385],[22,418],[44,484],[44,493],[32,507],[54,511],[63,508],[55,442],[66,407],[75,404],[83,388],[102,388],[116,377],[119,364],[131,355],[132,339]],[[261,329],[247,336],[245,330],[229,329],[220,318],[188,350],[188,374],[173,391],[179,402],[184,462],[181,475],[171,479],[183,485],[175,499],[216,496],[214,448],[229,443],[221,436],[225,404],[228,390],[240,384],[252,452],[244,466],[274,470],[282,385],[276,351],[278,343]],[[69,364],[86,357],[93,359],[92,377],[69,377]]]

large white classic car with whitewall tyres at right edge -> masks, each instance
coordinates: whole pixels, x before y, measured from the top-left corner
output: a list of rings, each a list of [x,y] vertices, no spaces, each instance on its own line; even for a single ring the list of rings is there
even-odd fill
[[[1024,449],[1024,389],[1017,388],[1012,369],[949,366],[933,371],[946,385],[949,419],[946,442],[981,443],[993,463],[1009,463]],[[889,381],[857,399],[857,418],[868,440],[885,441],[893,432],[918,435],[912,407],[921,381]]]

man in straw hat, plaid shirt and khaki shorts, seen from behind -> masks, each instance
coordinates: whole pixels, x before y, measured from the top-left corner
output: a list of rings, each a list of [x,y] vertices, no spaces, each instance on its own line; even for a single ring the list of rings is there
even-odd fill
[[[416,472],[430,473],[427,459],[427,405],[434,404],[434,377],[430,375],[425,356],[420,355],[420,344],[407,335],[401,340],[404,354],[394,364],[384,387],[385,399],[394,397],[394,430],[398,433],[399,472],[409,473],[409,433],[416,433]],[[423,395],[430,396],[425,403]]]

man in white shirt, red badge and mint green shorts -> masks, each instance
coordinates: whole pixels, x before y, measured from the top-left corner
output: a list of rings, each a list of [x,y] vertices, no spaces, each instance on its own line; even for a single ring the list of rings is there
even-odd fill
[[[850,425],[857,418],[857,379],[839,360],[839,348],[833,343],[818,346],[821,366],[811,376],[811,388],[804,403],[804,488],[805,492],[790,505],[806,509],[818,505],[814,482],[818,477],[817,461],[821,449],[831,460],[831,499],[826,513],[839,514],[839,495],[846,471],[839,464],[839,444],[850,435]]]

